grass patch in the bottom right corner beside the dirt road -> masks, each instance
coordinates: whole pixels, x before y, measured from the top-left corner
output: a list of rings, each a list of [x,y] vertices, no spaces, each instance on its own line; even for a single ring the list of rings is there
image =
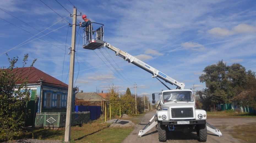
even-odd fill
[[[233,138],[241,139],[244,142],[256,142],[256,123],[233,127],[231,135]]]

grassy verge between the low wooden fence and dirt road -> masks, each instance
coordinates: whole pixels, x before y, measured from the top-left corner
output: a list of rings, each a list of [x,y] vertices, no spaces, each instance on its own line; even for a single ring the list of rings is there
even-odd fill
[[[134,123],[140,123],[141,117],[146,112],[138,114],[137,116],[130,116],[127,118],[121,118],[124,120],[130,120]],[[119,116],[113,116],[111,119],[120,119]],[[107,121],[109,118],[107,119]],[[105,123],[104,116],[99,119],[91,121],[87,124],[83,124],[82,127],[72,126],[70,133],[70,142],[110,142],[118,143],[122,142],[135,127],[110,127],[110,124]],[[42,139],[42,140],[61,140],[64,141],[65,130],[64,127],[59,130],[50,129],[37,129],[27,128],[20,136],[16,136],[14,139]]]

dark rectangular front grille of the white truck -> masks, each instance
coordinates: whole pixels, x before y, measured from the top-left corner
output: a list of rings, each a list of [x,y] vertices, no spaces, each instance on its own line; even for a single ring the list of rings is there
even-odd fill
[[[191,118],[193,117],[193,108],[172,108],[172,118]]]

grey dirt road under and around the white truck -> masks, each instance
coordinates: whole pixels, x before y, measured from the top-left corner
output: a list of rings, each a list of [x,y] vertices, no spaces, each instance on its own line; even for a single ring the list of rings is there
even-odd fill
[[[155,128],[149,130],[148,133],[143,135],[141,138],[138,137],[138,133],[152,116],[156,113],[156,110],[148,112],[141,119],[141,124],[138,124],[134,131],[127,136],[123,143],[149,143],[149,142],[159,142],[158,132]],[[207,119],[207,122],[212,124],[217,129],[220,129],[222,137],[215,136],[208,132],[207,142],[243,142],[241,140],[233,138],[229,133],[232,132],[232,127],[243,124],[256,123],[256,118],[221,118],[221,119]],[[198,142],[196,133],[189,133],[188,135],[183,134],[182,132],[173,132],[172,134],[167,132],[167,142]]]

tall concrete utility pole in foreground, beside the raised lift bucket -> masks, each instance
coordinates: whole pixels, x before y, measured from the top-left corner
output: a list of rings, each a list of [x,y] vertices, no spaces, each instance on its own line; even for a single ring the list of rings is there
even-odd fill
[[[67,95],[67,115],[66,115],[66,127],[65,127],[65,142],[70,140],[71,130],[71,113],[72,113],[72,96],[73,96],[73,78],[74,78],[74,63],[75,63],[75,37],[76,37],[76,21],[77,21],[77,9],[73,10],[73,24],[72,24],[72,39],[70,47],[70,70],[69,70],[69,88]]]

